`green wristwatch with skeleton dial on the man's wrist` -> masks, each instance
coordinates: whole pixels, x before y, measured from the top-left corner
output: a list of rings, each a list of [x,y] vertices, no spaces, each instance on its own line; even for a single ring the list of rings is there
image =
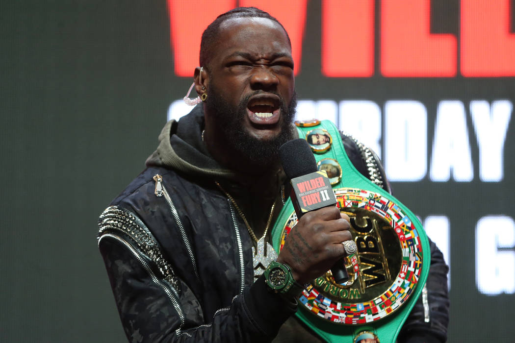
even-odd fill
[[[265,270],[265,282],[270,290],[286,298],[297,298],[304,289],[291,275],[291,268],[287,264],[272,261]]]

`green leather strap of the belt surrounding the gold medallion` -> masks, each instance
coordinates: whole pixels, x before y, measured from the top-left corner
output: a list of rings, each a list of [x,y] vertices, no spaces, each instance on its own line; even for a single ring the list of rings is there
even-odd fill
[[[337,188],[358,188],[362,190],[366,190],[369,192],[379,193],[382,196],[387,197],[388,200],[396,204],[403,213],[409,218],[409,220],[413,223],[416,228],[420,243],[422,246],[422,267],[421,273],[418,278],[418,282],[415,286],[415,290],[406,301],[404,301],[401,306],[390,315],[387,315],[380,320],[370,321],[364,324],[342,324],[342,323],[333,323],[329,320],[324,320],[313,313],[310,313],[309,310],[305,309],[299,303],[299,311],[297,311],[297,316],[304,321],[307,326],[309,326],[313,331],[315,331],[318,335],[329,342],[352,342],[358,333],[363,331],[372,332],[377,335],[380,339],[381,343],[385,342],[394,342],[396,337],[398,336],[402,324],[406,320],[409,315],[411,309],[415,305],[416,300],[419,298],[420,293],[422,292],[422,288],[427,279],[427,274],[429,272],[430,266],[430,247],[427,241],[427,237],[422,228],[421,223],[417,219],[417,217],[411,212],[406,206],[400,203],[396,198],[394,198],[391,194],[385,191],[383,188],[372,183],[367,177],[363,176],[359,173],[354,166],[352,165],[349,157],[345,152],[345,148],[343,142],[341,141],[340,134],[335,127],[335,125],[328,121],[323,120],[316,127],[306,127],[301,128],[297,127],[300,138],[305,138],[307,132],[313,129],[324,129],[329,132],[332,137],[332,145],[331,148],[322,154],[315,154],[315,159],[320,161],[324,158],[332,158],[338,161],[339,165],[342,169],[342,177],[338,184],[333,185],[333,189]],[[281,235],[285,224],[290,218],[290,215],[294,212],[294,207],[291,204],[291,201],[288,200],[285,206],[283,207],[277,222],[274,224],[272,229],[272,244],[276,251],[280,250],[281,246]]]

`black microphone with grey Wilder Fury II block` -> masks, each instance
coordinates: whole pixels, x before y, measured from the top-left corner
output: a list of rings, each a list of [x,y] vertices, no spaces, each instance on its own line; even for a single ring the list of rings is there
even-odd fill
[[[279,156],[286,177],[290,179],[291,202],[299,220],[306,212],[336,205],[331,182],[325,172],[318,171],[315,156],[304,139],[284,143],[279,148]],[[336,283],[342,284],[349,280],[344,258],[336,261],[331,273]]]

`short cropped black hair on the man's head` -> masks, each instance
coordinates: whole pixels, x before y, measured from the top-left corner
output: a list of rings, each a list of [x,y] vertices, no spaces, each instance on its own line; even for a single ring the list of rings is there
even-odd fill
[[[205,67],[205,65],[207,65],[209,63],[209,60],[211,59],[211,47],[214,43],[217,42],[217,36],[220,32],[220,25],[228,19],[243,17],[266,18],[278,23],[279,25],[281,25],[284,32],[286,33],[286,37],[288,38],[288,44],[291,47],[288,32],[286,32],[284,26],[281,23],[279,23],[279,21],[273,16],[271,16],[268,12],[262,11],[259,8],[255,7],[237,7],[218,15],[216,19],[211,24],[209,24],[209,26],[202,33],[199,54],[200,66]]]

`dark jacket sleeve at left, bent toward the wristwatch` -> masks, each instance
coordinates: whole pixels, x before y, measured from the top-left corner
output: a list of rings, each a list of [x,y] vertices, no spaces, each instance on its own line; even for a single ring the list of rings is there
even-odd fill
[[[98,246],[130,342],[266,342],[297,309],[296,302],[268,292],[264,279],[258,279],[227,308],[204,319],[190,287],[170,277],[169,266],[148,249],[151,237],[142,241],[145,232],[124,232],[118,224],[125,222],[102,216]]]

